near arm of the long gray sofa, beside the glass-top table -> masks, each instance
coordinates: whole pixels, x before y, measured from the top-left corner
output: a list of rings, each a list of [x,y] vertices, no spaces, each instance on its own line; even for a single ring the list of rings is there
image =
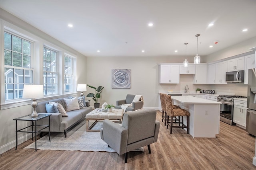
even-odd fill
[[[38,114],[45,114],[45,113],[38,113]],[[62,122],[61,113],[46,113],[46,114],[52,114],[50,116],[50,131],[60,132],[60,122]],[[48,123],[49,123],[48,117],[37,121],[38,125],[48,125]],[[48,128],[45,128],[42,131],[48,131]]]

